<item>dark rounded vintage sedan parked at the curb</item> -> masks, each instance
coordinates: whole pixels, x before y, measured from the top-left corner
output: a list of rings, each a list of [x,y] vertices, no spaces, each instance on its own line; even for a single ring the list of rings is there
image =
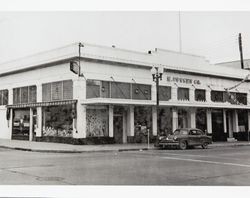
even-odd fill
[[[202,130],[195,128],[180,128],[176,129],[171,135],[158,136],[155,146],[160,148],[176,146],[185,150],[189,146],[201,146],[203,149],[206,149],[208,148],[208,144],[212,144],[212,138],[207,136]]]

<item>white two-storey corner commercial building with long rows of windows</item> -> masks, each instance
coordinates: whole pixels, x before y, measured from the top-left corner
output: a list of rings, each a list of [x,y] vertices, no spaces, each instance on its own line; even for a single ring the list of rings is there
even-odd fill
[[[72,44],[0,65],[0,138],[140,143],[197,127],[213,141],[249,139],[249,71],[162,49],[78,50]],[[70,61],[80,61],[83,75]],[[158,109],[153,67],[163,68]]]

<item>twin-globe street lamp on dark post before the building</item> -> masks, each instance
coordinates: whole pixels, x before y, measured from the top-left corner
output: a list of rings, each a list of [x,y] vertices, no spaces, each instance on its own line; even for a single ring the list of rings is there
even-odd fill
[[[153,81],[156,83],[156,113],[157,113],[157,131],[160,131],[160,122],[158,119],[158,109],[159,109],[159,81],[162,80],[164,68],[163,67],[152,67],[151,73]],[[158,132],[157,132],[158,134]]]

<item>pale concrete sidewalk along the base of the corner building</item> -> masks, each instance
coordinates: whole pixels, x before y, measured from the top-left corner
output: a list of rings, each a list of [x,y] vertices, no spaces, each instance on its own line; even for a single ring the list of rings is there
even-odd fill
[[[250,142],[216,142],[209,145],[209,148],[235,146],[250,146]],[[122,152],[156,149],[153,144],[150,144],[148,148],[147,144],[71,145],[6,139],[0,139],[0,148],[49,153]]]

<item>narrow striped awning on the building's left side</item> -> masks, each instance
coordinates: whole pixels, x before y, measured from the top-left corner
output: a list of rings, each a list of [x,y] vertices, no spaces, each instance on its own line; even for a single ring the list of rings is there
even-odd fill
[[[6,105],[6,107],[10,109],[15,109],[15,108],[28,108],[28,107],[60,106],[60,105],[68,105],[68,104],[76,104],[76,103],[77,103],[77,100],[60,100],[60,101],[53,101],[53,102],[36,102],[36,103]]]

